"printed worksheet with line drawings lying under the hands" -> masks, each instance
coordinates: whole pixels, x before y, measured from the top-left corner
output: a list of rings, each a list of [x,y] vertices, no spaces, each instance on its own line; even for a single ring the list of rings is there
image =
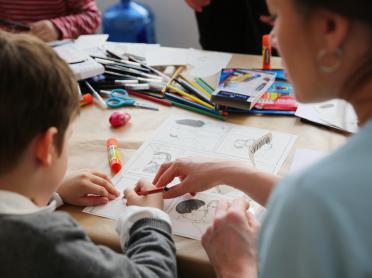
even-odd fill
[[[239,163],[252,163],[249,147],[263,135],[265,129],[233,125],[215,120],[190,116],[172,116],[144,143],[118,173],[113,182],[120,192],[133,187],[138,179],[152,180],[160,165],[180,157],[205,157],[229,159]],[[296,136],[271,132],[272,140],[254,154],[258,169],[276,174],[296,139]],[[174,180],[172,184],[178,183]],[[249,196],[227,185],[216,186],[196,196],[182,196],[165,201],[173,225],[173,232],[193,239],[200,239],[215,214],[216,205],[222,198],[234,200],[243,197],[250,202],[249,211],[259,220],[265,210]],[[86,213],[117,219],[125,211],[125,200],[117,198],[106,205],[87,207]]]

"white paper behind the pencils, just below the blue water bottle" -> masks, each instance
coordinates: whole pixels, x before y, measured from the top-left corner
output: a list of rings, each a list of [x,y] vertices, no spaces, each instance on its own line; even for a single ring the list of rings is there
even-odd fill
[[[146,52],[148,66],[182,66],[187,64],[187,49],[160,47]]]

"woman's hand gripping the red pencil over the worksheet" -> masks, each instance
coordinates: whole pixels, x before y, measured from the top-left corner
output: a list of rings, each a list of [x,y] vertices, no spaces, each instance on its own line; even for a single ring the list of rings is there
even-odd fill
[[[174,178],[180,179],[179,184],[164,192],[165,199],[175,198],[186,193],[205,191],[221,184],[221,176],[229,168],[230,163],[224,160],[177,159],[162,164],[152,183],[156,187],[164,187]]]

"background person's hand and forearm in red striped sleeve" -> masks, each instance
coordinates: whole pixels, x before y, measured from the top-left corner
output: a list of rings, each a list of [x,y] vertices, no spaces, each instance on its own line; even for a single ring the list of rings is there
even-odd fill
[[[34,22],[31,32],[44,41],[77,38],[96,32],[101,13],[95,0],[67,0],[66,5],[69,15]]]

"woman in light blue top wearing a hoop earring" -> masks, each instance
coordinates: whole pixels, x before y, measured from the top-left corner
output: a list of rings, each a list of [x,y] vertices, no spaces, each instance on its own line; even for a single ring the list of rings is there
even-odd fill
[[[164,164],[154,183],[162,187],[181,178],[166,198],[230,184],[267,206],[256,258],[258,229],[247,205],[220,202],[202,240],[219,277],[371,277],[372,2],[267,3],[297,99],[349,101],[359,133],[317,165],[282,180],[239,163],[181,159]]]

